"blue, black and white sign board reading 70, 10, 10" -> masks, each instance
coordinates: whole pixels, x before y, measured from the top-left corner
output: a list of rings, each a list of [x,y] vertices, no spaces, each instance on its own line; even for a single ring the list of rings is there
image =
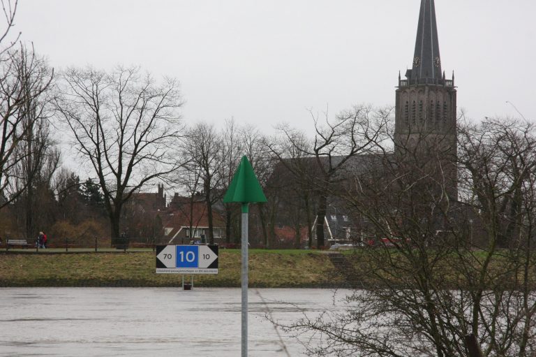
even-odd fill
[[[157,245],[156,272],[218,274],[217,245]]]

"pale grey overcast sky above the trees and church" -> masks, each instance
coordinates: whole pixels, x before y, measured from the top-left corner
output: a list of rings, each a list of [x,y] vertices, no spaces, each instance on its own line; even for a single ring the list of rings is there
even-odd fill
[[[136,64],[181,82],[188,122],[310,129],[313,112],[393,105],[420,0],[20,0],[55,68]],[[536,1],[435,0],[442,68],[468,117],[536,119]]]

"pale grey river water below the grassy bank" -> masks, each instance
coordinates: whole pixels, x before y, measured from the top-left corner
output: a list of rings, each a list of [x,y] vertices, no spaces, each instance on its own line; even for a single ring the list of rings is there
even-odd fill
[[[250,289],[249,356],[304,356],[267,314],[296,321],[341,309],[347,293]],[[240,313],[240,289],[3,288],[0,356],[237,357]]]

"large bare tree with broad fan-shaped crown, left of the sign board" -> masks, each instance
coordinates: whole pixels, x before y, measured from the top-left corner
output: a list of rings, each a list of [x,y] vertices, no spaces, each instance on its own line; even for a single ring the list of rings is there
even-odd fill
[[[121,210],[133,194],[182,166],[174,154],[182,129],[178,83],[158,84],[140,68],[121,66],[110,73],[69,68],[62,79],[57,109],[80,160],[97,177],[117,238]]]

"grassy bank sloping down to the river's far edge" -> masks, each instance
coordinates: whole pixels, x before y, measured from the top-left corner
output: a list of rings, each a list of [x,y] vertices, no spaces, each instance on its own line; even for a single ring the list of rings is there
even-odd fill
[[[196,275],[195,286],[240,286],[239,250],[219,254],[218,275]],[[156,274],[154,252],[2,254],[0,286],[179,286],[181,275]],[[251,249],[249,286],[332,287],[343,278],[326,254]]]

